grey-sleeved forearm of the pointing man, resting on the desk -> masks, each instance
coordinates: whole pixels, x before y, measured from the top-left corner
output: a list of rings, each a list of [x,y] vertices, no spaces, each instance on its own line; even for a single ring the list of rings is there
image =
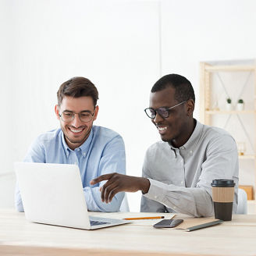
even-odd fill
[[[149,199],[158,201],[176,212],[201,217],[214,214],[212,197],[203,187],[178,187],[149,179]]]

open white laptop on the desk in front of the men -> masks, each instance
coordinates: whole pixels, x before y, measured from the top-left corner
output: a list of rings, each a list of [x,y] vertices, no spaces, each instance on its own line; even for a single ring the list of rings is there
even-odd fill
[[[26,219],[77,229],[101,229],[129,223],[89,216],[77,165],[14,163]]]

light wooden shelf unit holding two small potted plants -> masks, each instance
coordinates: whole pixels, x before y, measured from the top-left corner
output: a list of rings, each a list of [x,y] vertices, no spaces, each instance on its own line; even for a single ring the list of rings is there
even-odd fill
[[[217,64],[216,64],[217,63]],[[219,65],[218,62],[201,62],[200,63],[200,119],[201,123],[204,123],[206,125],[212,125],[215,126],[214,123],[212,123],[212,118],[213,116],[217,115],[251,115],[252,119],[252,125],[254,126],[254,132],[256,133],[256,62],[254,62],[254,65],[251,64],[242,64],[242,65],[233,65],[230,64],[229,62],[225,65],[221,64]],[[251,72],[254,76],[254,84],[253,86],[253,91],[254,95],[253,101],[254,101],[254,106],[253,108],[249,108],[243,111],[237,111],[237,110],[232,110],[232,111],[227,111],[223,109],[214,109],[212,108],[212,76],[214,73],[240,73],[240,72]],[[224,91],[223,91],[224,93]],[[250,135],[250,134],[249,134]],[[233,136],[236,140],[236,137]],[[250,160],[254,161],[254,192],[253,192],[253,199],[256,198],[256,136],[255,140],[252,142],[254,144],[254,154],[250,155],[239,155],[239,161],[244,161],[244,160]],[[242,174],[240,173],[240,176]],[[244,186],[246,187],[246,186]]]

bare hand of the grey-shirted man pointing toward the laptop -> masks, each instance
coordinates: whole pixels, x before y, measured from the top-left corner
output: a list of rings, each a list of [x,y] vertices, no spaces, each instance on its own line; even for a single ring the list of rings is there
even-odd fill
[[[108,180],[101,188],[101,201],[112,201],[112,198],[119,192],[137,192],[141,190],[142,193],[148,193],[150,182],[146,178],[127,176],[116,172],[98,176],[91,180],[91,185],[99,183],[103,180]]]

